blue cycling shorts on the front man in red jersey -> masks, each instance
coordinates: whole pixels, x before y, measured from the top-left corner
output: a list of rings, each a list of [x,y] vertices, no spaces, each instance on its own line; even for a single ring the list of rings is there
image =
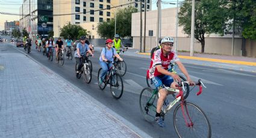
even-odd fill
[[[155,88],[159,89],[163,89],[164,86],[170,86],[170,84],[173,82],[173,78],[167,75],[163,75],[163,76],[156,76],[152,78],[152,81],[154,82]]]

